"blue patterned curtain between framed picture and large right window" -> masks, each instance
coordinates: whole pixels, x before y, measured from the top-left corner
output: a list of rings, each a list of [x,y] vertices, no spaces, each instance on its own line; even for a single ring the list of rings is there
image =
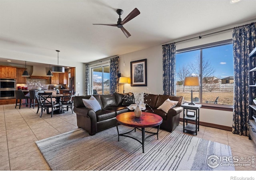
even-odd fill
[[[176,44],[166,44],[163,47],[163,94],[176,94],[175,64]]]

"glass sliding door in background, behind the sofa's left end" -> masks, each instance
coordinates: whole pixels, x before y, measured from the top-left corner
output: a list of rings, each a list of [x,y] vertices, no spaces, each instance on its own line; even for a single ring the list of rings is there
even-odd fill
[[[109,94],[110,92],[110,64],[90,67],[91,94]]]

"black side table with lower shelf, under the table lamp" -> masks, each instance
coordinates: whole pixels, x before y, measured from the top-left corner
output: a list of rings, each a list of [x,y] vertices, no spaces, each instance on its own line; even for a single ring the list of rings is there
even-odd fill
[[[199,109],[201,108],[201,106],[201,104],[189,105],[188,103],[184,103],[181,105],[181,107],[183,107],[183,132],[187,130],[190,132],[194,132],[197,135],[197,131],[199,131]],[[195,124],[188,124],[188,121],[193,121],[195,122]]]

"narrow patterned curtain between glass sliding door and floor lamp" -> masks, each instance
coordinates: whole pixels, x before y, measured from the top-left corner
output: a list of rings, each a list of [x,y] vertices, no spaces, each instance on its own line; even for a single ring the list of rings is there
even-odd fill
[[[118,91],[118,57],[115,57],[110,59],[110,94]]]

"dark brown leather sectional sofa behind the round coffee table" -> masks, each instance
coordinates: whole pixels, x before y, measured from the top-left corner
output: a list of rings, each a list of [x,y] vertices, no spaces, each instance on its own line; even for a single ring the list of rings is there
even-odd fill
[[[74,97],[74,112],[77,117],[78,128],[83,128],[90,135],[96,134],[101,130],[105,130],[112,126],[116,126],[116,116],[118,114],[129,112],[129,105],[122,105],[124,94],[94,94],[93,95],[101,106],[101,110],[94,112],[92,109],[86,108],[82,99],[89,99],[89,96]],[[168,113],[157,108],[169,98],[170,100],[178,101],[178,104],[171,108]],[[182,96],[155,95],[144,93],[144,103],[146,104],[145,112],[158,114],[163,118],[160,129],[172,132],[180,122],[180,112],[183,108],[180,107],[183,101]]]

